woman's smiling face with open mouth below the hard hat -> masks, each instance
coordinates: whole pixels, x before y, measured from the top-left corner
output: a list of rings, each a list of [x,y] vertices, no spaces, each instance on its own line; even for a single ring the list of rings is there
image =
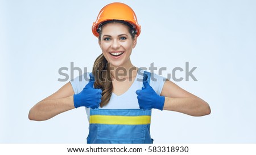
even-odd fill
[[[130,55],[137,44],[137,36],[131,37],[129,28],[122,23],[108,23],[102,26],[99,45],[106,60],[113,67],[130,67]]]

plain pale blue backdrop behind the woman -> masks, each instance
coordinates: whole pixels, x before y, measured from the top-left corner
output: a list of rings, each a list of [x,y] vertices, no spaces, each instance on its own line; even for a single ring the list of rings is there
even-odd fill
[[[43,122],[27,115],[66,83],[57,81],[60,67],[69,75],[71,62],[91,71],[101,54],[92,22],[110,2],[0,1],[0,143],[86,143],[84,108]],[[154,143],[256,143],[256,2],[120,2],[142,25],[131,55],[135,66],[154,62],[167,74],[189,62],[198,81],[175,83],[212,109],[205,117],[154,110]]]

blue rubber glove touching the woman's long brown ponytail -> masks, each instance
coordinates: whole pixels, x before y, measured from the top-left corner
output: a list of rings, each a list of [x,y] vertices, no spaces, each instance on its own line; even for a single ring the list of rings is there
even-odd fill
[[[90,107],[92,109],[98,108],[101,103],[101,89],[93,88],[94,77],[90,74],[90,81],[85,85],[84,89],[79,94],[74,94],[74,106]]]

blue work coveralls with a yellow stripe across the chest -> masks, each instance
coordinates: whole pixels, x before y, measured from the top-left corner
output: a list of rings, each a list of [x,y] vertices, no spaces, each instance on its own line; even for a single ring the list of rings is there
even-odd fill
[[[150,82],[150,72],[144,71]],[[151,110],[90,109],[88,144],[151,144]]]

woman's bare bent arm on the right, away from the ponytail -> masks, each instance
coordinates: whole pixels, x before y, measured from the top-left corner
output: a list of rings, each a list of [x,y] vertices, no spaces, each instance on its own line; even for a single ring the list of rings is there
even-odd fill
[[[161,96],[165,96],[164,110],[177,111],[180,113],[203,116],[210,114],[210,106],[201,98],[185,91],[172,81],[167,80]]]

